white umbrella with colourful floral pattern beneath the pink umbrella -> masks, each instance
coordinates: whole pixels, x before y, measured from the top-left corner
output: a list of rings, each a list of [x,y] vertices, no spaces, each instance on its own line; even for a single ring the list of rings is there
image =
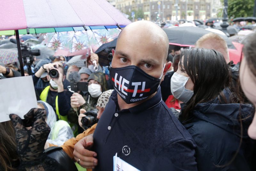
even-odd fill
[[[120,33],[119,29],[99,29],[87,31],[69,31],[58,33],[44,33],[44,41],[49,48],[64,49],[69,52],[87,49],[90,46],[97,49],[102,44],[114,40]]]

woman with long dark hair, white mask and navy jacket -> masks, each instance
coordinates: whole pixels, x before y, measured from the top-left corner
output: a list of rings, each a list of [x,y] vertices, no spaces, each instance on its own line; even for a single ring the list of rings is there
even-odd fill
[[[180,56],[171,91],[184,102],[180,119],[196,142],[198,170],[252,170],[254,142],[246,130],[254,108],[240,104],[229,89],[224,57],[202,48],[184,49]]]

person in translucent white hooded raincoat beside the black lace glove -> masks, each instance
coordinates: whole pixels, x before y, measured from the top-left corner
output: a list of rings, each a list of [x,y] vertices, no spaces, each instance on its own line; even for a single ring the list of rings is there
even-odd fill
[[[51,132],[48,135],[46,142],[59,146],[63,145],[68,139],[74,137],[73,131],[66,121],[57,121],[57,115],[51,105],[41,100],[37,101],[37,104],[38,108],[46,110],[46,123],[51,128]]]

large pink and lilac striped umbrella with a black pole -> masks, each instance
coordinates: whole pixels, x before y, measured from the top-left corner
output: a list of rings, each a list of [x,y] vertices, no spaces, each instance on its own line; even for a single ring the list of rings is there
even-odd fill
[[[21,74],[24,76],[19,29],[34,33],[120,28],[131,23],[106,0],[4,0],[1,2],[0,30],[15,30]],[[89,27],[88,27],[89,26]],[[61,28],[60,28],[61,27]],[[65,28],[64,28],[65,27]],[[103,27],[103,28],[104,28]],[[30,32],[32,33],[32,32]]]

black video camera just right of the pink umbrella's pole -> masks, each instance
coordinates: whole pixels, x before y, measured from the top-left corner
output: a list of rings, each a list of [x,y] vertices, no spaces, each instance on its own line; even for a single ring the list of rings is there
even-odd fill
[[[21,44],[21,54],[23,58],[23,63],[25,65],[31,65],[34,62],[34,56],[40,55],[39,49],[30,49],[27,44]]]

